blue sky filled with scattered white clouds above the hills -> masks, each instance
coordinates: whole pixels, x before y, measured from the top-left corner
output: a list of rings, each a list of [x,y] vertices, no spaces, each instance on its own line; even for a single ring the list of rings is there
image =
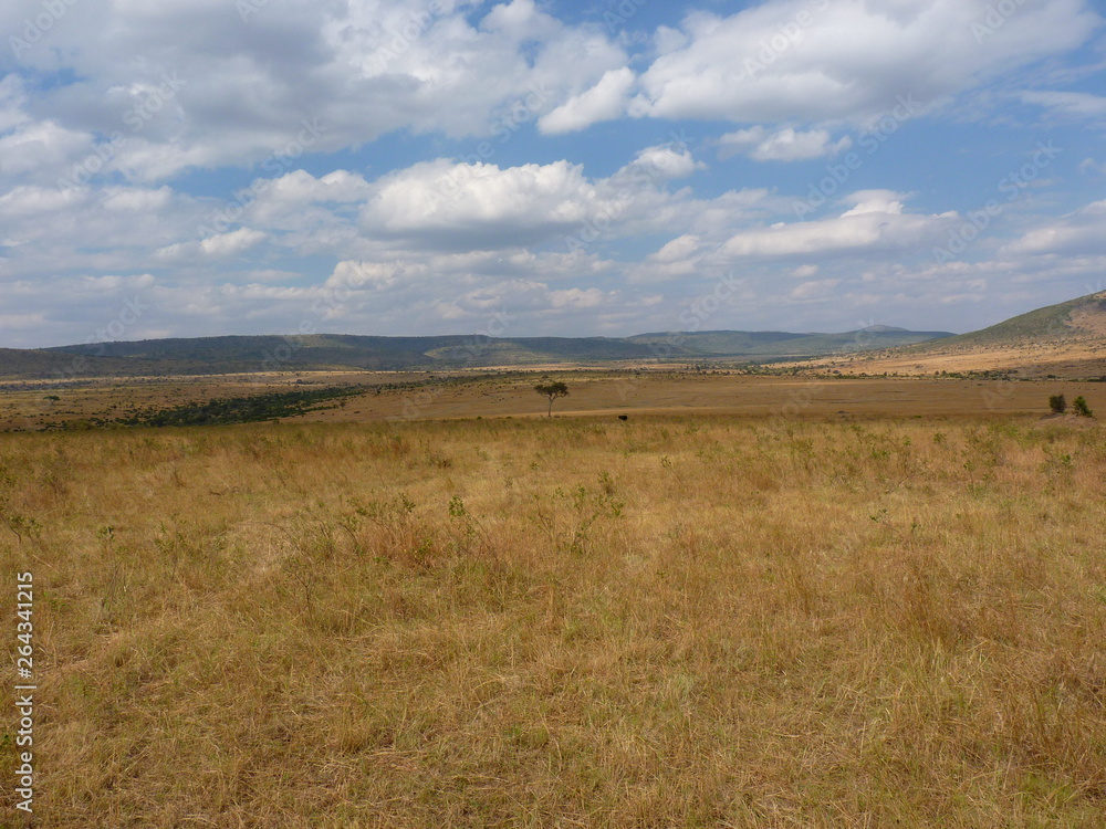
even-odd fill
[[[1106,287],[1086,0],[6,0],[0,347],[972,330]]]

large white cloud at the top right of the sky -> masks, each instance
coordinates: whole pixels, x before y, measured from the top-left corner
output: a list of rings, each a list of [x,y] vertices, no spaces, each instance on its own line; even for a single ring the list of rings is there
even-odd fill
[[[696,12],[684,22],[687,43],[638,78],[630,113],[863,125],[899,95],[952,95],[989,73],[1072,49],[1100,23],[1082,0],[1052,0],[1019,9],[980,42],[972,25],[987,12],[987,0],[791,0],[726,18]]]

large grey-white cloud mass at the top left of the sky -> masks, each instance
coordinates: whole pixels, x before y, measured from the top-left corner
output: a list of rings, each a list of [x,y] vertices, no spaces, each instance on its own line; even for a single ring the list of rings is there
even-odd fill
[[[41,11],[22,6],[22,15],[11,4],[0,12],[3,31]],[[319,151],[405,128],[489,135],[521,101],[534,117],[575,102],[554,126],[581,117],[573,111],[606,117],[633,80],[624,49],[595,27],[566,24],[533,0],[483,14],[481,6],[293,0],[243,15],[218,0],[82,0],[51,29],[49,48],[20,62],[81,77],[38,91],[39,117],[59,133],[51,140],[121,132],[127,141],[112,169],[150,182],[261,161],[295,141],[304,118],[319,124]],[[0,56],[0,77],[11,56]],[[0,87],[0,125],[15,97]]]

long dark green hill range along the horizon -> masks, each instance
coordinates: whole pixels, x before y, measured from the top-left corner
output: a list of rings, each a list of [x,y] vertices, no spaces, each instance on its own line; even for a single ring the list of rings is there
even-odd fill
[[[549,363],[793,357],[888,348],[952,336],[877,326],[845,334],[789,332],[655,333],[634,337],[376,337],[315,334],[227,336],[94,343],[35,350],[0,349],[0,378],[80,379],[274,370],[452,369]]]

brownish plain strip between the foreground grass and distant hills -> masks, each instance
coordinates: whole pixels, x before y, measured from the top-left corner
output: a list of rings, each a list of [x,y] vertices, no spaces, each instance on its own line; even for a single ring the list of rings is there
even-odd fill
[[[671,369],[634,372],[547,368],[544,374],[564,380],[571,389],[570,397],[554,407],[560,414],[1044,414],[1048,411],[1048,397],[1060,393],[1068,399],[1083,395],[1092,409],[1106,411],[1106,385],[1071,380],[843,379]],[[119,418],[135,409],[344,385],[364,386],[366,391],[298,418],[296,422],[539,417],[546,410],[546,401],[533,389],[541,377],[542,372],[536,371],[499,375],[473,371],[451,376],[416,371],[302,371],[252,378],[88,380],[76,388],[53,390],[41,384],[19,384],[0,397],[0,430],[36,430],[46,423]]]

